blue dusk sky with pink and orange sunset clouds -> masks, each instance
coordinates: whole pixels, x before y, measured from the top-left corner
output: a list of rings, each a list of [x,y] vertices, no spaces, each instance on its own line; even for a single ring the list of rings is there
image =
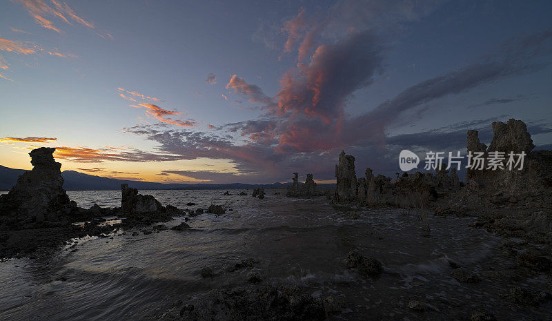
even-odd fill
[[[150,182],[335,182],[341,150],[552,144],[551,1],[0,3],[0,164]],[[460,172],[460,176],[465,175]]]

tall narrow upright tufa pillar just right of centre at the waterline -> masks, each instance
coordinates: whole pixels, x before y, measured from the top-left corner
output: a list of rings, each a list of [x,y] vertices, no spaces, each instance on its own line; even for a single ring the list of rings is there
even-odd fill
[[[336,203],[348,203],[357,200],[357,174],[355,173],[355,157],[339,154],[339,164],[335,165],[336,188],[333,197]]]

